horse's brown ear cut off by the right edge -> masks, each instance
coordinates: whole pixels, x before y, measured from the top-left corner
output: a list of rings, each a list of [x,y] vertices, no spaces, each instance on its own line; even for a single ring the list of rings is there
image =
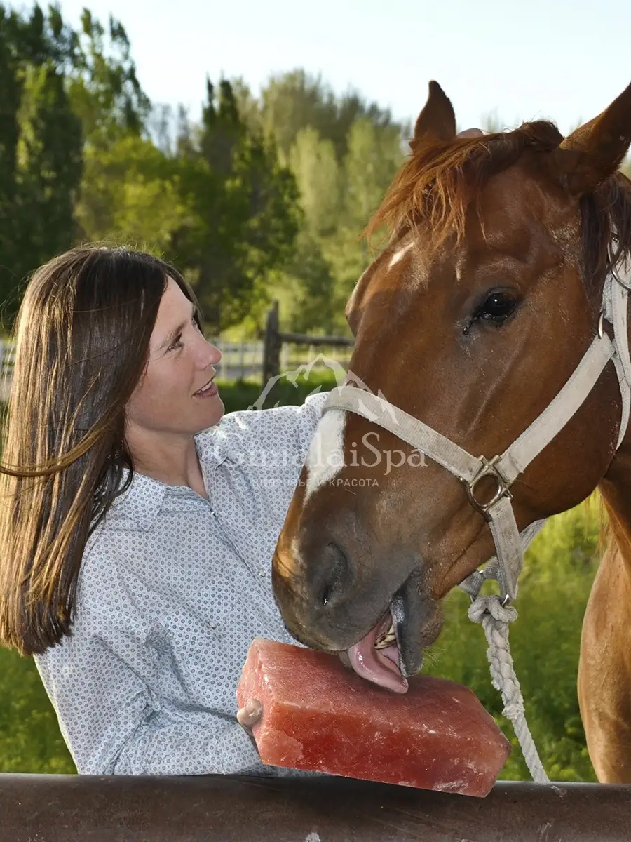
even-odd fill
[[[615,173],[631,145],[631,85],[602,114],[581,125],[551,152],[550,173],[582,195]]]

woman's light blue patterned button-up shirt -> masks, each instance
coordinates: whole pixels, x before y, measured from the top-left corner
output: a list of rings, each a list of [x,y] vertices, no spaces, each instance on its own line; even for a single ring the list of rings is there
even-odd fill
[[[294,642],[271,559],[327,392],[195,436],[209,499],[135,474],[87,543],[72,636],[35,661],[80,774],[288,774],[236,722],[252,639]]]

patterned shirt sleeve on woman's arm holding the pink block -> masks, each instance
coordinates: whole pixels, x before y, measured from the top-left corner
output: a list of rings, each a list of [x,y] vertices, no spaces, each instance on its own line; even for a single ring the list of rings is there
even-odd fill
[[[125,584],[113,587],[113,559],[87,561],[72,636],[35,659],[79,774],[278,775],[236,722],[236,701],[234,716],[162,706],[151,624]]]

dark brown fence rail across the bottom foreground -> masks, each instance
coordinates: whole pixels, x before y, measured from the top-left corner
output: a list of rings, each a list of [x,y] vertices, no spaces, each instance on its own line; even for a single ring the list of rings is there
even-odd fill
[[[631,786],[470,798],[346,778],[0,775],[7,842],[628,842]]]

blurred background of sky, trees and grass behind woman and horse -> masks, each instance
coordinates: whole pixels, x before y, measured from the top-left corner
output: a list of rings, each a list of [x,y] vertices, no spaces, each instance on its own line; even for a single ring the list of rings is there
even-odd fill
[[[628,18],[616,0],[0,3],[0,397],[29,273],[77,242],[183,270],[224,352],[227,411],[261,391],[274,301],[280,370],[309,363],[316,341],[344,364],[344,305],[374,255],[363,227],[427,82],[459,129],[551,119],[567,134],[628,84]],[[315,365],[268,398],[331,385]],[[575,679],[599,519],[592,501],[550,522],[517,605],[517,674],[556,780],[595,780]],[[448,600],[428,669],[469,685],[512,737],[466,607]],[[0,771],[73,770],[33,663],[0,651]],[[518,749],[503,776],[528,777]]]

